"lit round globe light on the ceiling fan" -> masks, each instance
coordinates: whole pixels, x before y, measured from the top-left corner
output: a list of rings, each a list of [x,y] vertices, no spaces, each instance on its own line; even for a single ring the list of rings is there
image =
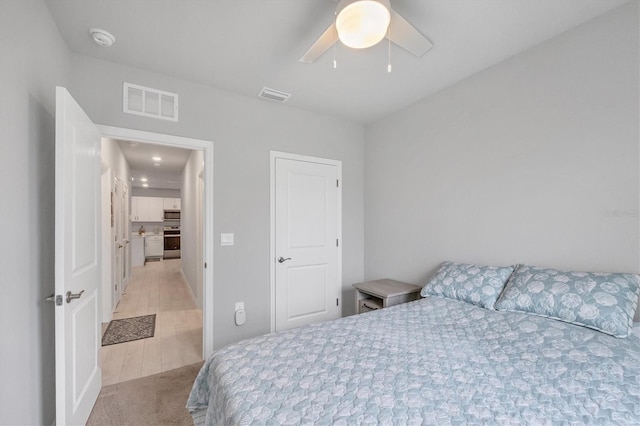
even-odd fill
[[[336,9],[338,38],[354,49],[378,44],[389,28],[389,9],[389,0],[341,0]]]

